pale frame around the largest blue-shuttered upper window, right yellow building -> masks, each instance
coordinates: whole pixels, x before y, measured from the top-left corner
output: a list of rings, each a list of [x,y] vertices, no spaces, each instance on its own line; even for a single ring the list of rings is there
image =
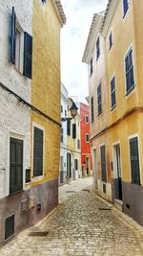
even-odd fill
[[[127,91],[127,72],[126,72],[126,58],[129,58],[130,53],[132,52],[132,60],[133,60],[133,85],[130,87],[130,89]],[[131,68],[130,68],[131,70]],[[128,48],[127,52],[124,55],[124,76],[125,76],[125,95],[128,97],[135,89],[135,72],[134,72],[134,55],[133,55],[133,44]],[[128,70],[128,72],[130,72]]]

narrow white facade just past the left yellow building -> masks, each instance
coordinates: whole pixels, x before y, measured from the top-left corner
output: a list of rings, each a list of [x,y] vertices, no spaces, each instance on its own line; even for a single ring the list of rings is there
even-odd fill
[[[68,113],[68,91],[61,84],[61,117],[66,117]],[[63,140],[61,141],[60,150],[60,168],[59,183],[65,183],[67,176],[67,121],[62,122]]]

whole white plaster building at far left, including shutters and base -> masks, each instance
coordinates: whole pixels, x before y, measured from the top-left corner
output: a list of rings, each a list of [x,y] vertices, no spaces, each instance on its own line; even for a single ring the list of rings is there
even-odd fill
[[[14,228],[17,231],[14,222],[26,223],[19,209],[29,189],[26,170],[31,167],[31,58],[28,67],[27,53],[28,43],[31,45],[32,1],[0,0],[0,24],[1,243]]]

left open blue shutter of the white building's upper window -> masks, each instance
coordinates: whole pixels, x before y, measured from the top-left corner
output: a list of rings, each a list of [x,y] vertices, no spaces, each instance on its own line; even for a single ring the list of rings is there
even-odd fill
[[[12,7],[11,24],[10,24],[10,61],[15,63],[15,37],[16,37],[16,15],[14,7]]]

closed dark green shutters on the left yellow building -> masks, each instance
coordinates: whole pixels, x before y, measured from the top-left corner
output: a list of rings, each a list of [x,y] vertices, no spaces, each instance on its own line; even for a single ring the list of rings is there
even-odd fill
[[[33,176],[43,175],[43,136],[44,131],[33,128]]]

